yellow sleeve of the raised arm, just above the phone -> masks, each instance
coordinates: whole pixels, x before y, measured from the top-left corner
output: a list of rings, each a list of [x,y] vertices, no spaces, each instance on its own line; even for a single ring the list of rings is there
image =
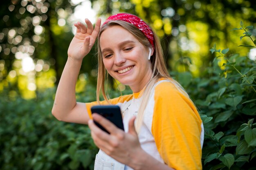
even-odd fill
[[[119,96],[118,98],[113,98],[110,99],[109,102],[111,105],[117,105],[118,103],[123,103],[125,101],[129,101],[132,99],[132,94],[129,95],[124,95],[124,96]],[[109,105],[109,103],[106,100],[98,102],[88,102],[85,103],[86,109],[88,111],[88,114],[90,118],[92,119],[92,112],[91,112],[91,107],[94,105]]]

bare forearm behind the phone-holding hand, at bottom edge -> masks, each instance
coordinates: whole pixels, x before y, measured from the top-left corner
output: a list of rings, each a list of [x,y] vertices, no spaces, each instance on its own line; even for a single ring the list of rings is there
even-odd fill
[[[173,168],[168,167],[166,164],[158,161],[144,150],[137,153],[130,163],[131,168],[134,170],[174,170]]]

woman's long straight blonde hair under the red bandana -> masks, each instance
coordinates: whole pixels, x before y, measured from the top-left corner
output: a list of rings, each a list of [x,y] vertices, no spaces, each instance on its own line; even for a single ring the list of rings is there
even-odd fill
[[[101,37],[101,33],[103,31],[105,31],[107,28],[110,28],[111,26],[115,26],[115,25],[119,25],[121,27],[123,27],[124,29],[126,29],[129,33],[131,33],[136,39],[138,39],[138,41],[143,44],[144,46],[148,47],[148,48],[152,48],[150,42],[148,41],[148,39],[146,38],[146,36],[135,26],[133,26],[132,24],[125,22],[125,21],[121,21],[121,20],[112,20],[108,23],[106,23],[105,25],[102,26],[99,35],[98,35],[98,64],[99,64],[99,68],[98,68],[98,81],[97,81],[97,101],[99,103],[99,96],[100,93],[102,93],[103,98],[109,102],[109,98],[106,95],[106,89],[105,89],[105,81],[107,80],[108,77],[108,73],[106,72],[106,68],[104,67],[103,64],[103,56],[101,53],[101,47],[99,44],[100,41],[100,37]],[[152,30],[152,28],[151,28]],[[143,117],[144,117],[144,110],[146,109],[146,105],[148,103],[148,100],[150,98],[150,92],[151,89],[154,87],[155,83],[157,83],[157,81],[159,81],[160,78],[166,78],[168,80],[170,80],[175,87],[185,96],[188,96],[188,94],[185,92],[185,90],[182,88],[182,86],[175,80],[173,80],[169,73],[168,70],[166,68],[166,63],[164,60],[164,54],[163,54],[163,50],[162,50],[162,46],[160,44],[160,40],[158,38],[158,36],[154,33],[153,31],[153,35],[155,38],[154,41],[154,53],[153,56],[151,56],[150,61],[152,63],[152,70],[153,70],[153,74],[152,77],[150,78],[150,81],[147,83],[147,85],[142,89],[140,96],[141,99],[141,105],[139,107],[139,111],[138,111],[138,115],[137,115],[137,119],[136,119],[136,123],[135,123],[135,128],[137,133],[139,133],[140,127],[143,123]],[[110,103],[110,102],[109,102]]]

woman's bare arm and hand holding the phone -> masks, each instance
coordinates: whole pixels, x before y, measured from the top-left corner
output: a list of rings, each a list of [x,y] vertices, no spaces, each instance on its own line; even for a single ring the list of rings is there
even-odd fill
[[[173,170],[141,148],[134,126],[135,116],[129,121],[128,133],[118,129],[99,114],[93,114],[92,117],[110,132],[105,133],[89,120],[94,143],[110,157],[135,170]]]

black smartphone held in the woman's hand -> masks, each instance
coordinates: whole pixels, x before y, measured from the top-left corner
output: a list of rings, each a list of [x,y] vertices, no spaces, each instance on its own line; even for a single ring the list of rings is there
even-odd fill
[[[124,124],[121,114],[121,109],[117,105],[96,105],[91,107],[92,114],[98,113],[104,118],[110,120],[113,124],[115,124],[119,129],[124,131]],[[109,133],[105,128],[103,128],[99,123],[94,121],[94,123],[103,131]],[[110,133],[109,133],[110,134]]]

